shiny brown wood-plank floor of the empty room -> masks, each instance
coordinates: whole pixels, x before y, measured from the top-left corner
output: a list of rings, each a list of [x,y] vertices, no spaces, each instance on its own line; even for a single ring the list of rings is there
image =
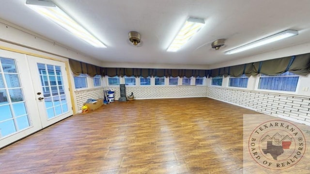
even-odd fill
[[[0,150],[1,174],[242,174],[243,114],[208,98],[113,102]]]

